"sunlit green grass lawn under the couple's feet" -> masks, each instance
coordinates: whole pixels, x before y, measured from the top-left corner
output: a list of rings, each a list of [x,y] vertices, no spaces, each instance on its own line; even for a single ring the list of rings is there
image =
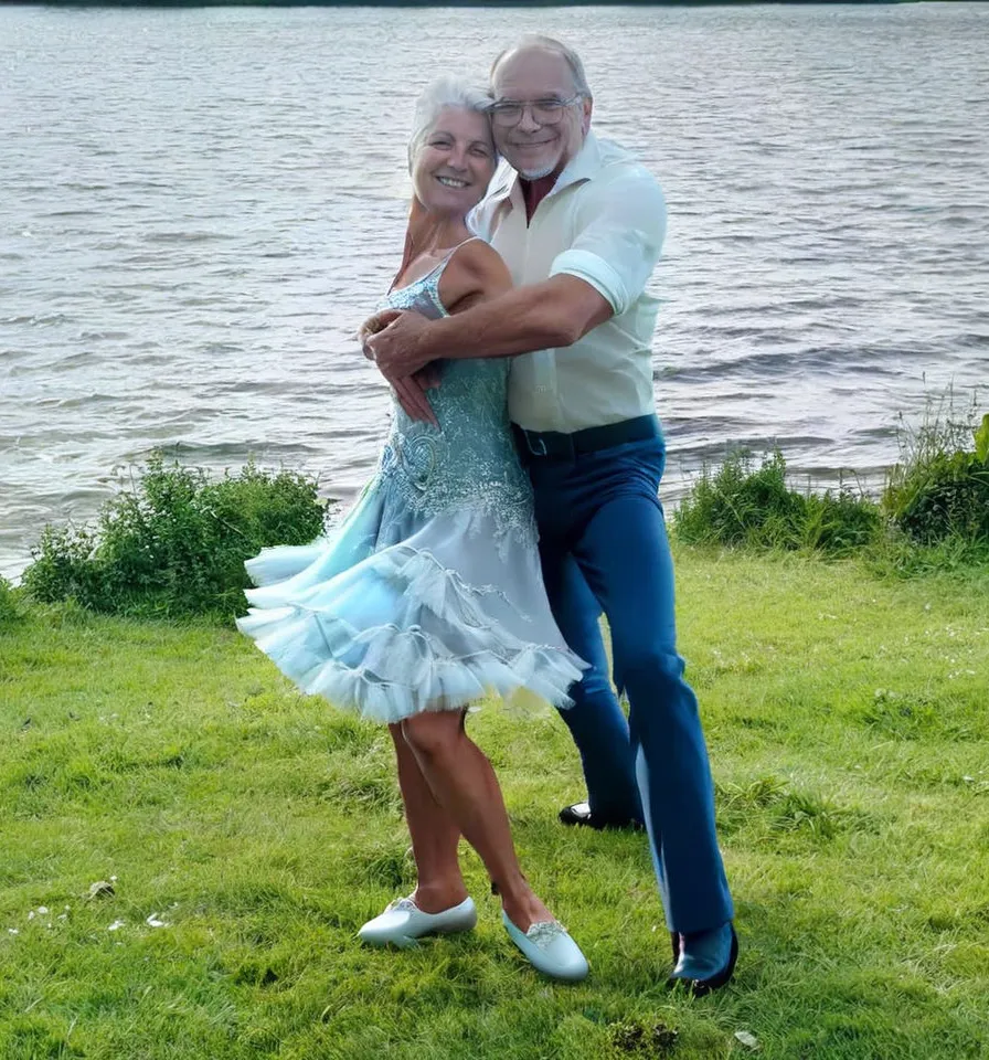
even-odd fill
[[[555,717],[470,725],[578,986],[523,962],[467,849],[475,933],[358,945],[412,880],[383,730],[231,629],[34,610],[0,628],[0,1057],[753,1054],[736,1031],[766,1058],[989,1057],[989,572],[678,562],[731,988],[664,989],[641,836],[555,823],[582,795]]]

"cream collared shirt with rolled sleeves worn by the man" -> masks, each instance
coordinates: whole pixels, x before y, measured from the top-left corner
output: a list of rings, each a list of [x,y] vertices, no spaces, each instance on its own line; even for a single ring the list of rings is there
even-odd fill
[[[651,413],[657,299],[646,284],[666,234],[656,178],[628,151],[588,132],[527,224],[514,171],[503,166],[471,225],[517,286],[566,273],[591,284],[614,316],[573,346],[512,361],[509,414],[529,431],[570,434]]]

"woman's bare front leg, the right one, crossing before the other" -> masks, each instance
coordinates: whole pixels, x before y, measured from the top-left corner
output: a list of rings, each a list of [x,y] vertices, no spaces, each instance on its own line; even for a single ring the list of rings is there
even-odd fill
[[[494,770],[467,735],[464,711],[426,711],[402,722],[402,732],[449,819],[480,855],[512,923],[527,931],[552,920],[522,876]]]

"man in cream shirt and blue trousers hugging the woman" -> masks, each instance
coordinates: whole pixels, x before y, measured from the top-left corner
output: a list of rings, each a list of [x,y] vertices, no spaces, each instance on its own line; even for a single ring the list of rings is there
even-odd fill
[[[677,956],[671,981],[706,993],[731,978],[737,939],[657,497],[666,452],[645,286],[666,205],[645,169],[591,132],[591,91],[565,45],[523,38],[496,60],[491,87],[496,142],[515,174],[496,177],[477,224],[518,286],[442,320],[387,314],[365,352],[423,417],[416,373],[430,361],[515,358],[509,412],[532,478],[546,591],[571,647],[592,664],[563,712],[589,807],[561,816],[599,827],[641,812]],[[608,681],[602,610],[627,723]]]

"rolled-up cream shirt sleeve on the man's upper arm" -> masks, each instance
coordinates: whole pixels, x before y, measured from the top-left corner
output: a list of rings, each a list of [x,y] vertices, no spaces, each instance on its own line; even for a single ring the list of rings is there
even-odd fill
[[[576,236],[553,259],[550,275],[566,273],[585,280],[620,316],[646,289],[659,262],[666,200],[652,174],[642,169],[613,180],[592,179],[584,194]]]

